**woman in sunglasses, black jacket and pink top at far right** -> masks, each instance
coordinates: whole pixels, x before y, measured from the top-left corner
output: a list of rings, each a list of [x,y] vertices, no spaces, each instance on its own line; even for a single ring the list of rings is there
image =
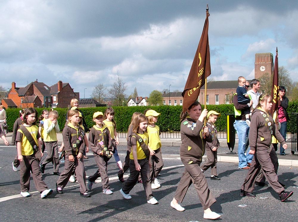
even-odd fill
[[[280,134],[285,139],[287,135],[287,121],[289,121],[289,116],[287,113],[287,108],[289,106],[289,99],[285,97],[285,87],[280,86],[279,87],[279,101],[278,101],[278,118],[280,122]],[[280,144],[280,155],[285,155],[285,149]]]

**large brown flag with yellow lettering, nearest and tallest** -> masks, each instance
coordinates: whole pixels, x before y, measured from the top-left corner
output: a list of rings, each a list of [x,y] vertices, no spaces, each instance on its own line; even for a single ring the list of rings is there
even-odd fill
[[[193,59],[193,65],[190,68],[190,72],[182,93],[183,97],[183,112],[193,104],[200,94],[201,87],[205,84],[205,78],[210,76],[210,50],[208,40],[208,20],[209,12],[208,5],[206,10],[206,20],[201,35],[201,39],[198,45],[198,49]]]

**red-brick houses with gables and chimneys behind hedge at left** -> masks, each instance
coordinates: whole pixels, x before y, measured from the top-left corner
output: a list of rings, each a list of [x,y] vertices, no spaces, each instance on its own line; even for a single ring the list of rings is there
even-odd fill
[[[69,83],[58,81],[49,87],[43,82],[31,82],[26,87],[16,87],[12,82],[7,98],[2,100],[4,107],[60,107],[66,108],[72,99],[79,100],[80,94],[75,93]]]

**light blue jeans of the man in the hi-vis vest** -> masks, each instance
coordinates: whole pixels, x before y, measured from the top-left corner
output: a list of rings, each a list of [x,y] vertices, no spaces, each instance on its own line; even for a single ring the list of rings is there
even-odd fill
[[[249,126],[247,125],[246,121],[235,120],[234,128],[238,134],[238,168],[243,168],[247,166],[247,163],[252,162],[252,158],[254,157],[254,155],[248,153],[250,147],[247,148],[245,155],[245,143],[248,140]]]

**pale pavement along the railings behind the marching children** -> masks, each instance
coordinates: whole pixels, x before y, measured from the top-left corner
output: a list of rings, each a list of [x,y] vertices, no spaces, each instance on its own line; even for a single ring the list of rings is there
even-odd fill
[[[7,140],[11,144],[11,135],[12,133],[8,133],[6,135]],[[88,133],[87,133],[88,137]],[[62,133],[57,134],[58,144],[61,144],[62,139]],[[232,163],[238,163],[238,138],[235,138],[235,147],[233,149],[233,152],[235,154],[231,154],[230,150],[226,143],[226,138],[218,139],[221,146],[218,150],[218,162],[232,162]],[[172,146],[172,147],[179,147],[181,145],[180,138],[161,138],[162,146]],[[277,154],[279,165],[283,166],[296,166],[298,167],[298,155],[293,155],[291,153],[291,140],[287,139],[287,145],[288,148],[285,150],[285,156],[280,156]],[[0,144],[3,144],[3,140],[0,141]],[[126,138],[119,138],[119,146],[126,146]],[[297,152],[295,154],[298,154]]]

